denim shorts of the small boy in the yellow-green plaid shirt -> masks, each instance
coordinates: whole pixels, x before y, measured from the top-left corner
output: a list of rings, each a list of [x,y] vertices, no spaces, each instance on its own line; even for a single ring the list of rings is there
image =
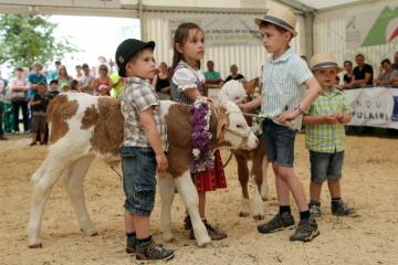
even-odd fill
[[[344,151],[339,152],[316,152],[310,150],[311,181],[324,182],[325,180],[339,180]]]

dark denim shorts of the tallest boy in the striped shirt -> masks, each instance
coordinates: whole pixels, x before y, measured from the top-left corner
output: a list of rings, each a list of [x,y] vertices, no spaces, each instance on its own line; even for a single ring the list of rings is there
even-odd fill
[[[275,124],[271,119],[263,121],[262,130],[268,160],[277,162],[282,167],[292,168],[296,132],[286,126]]]

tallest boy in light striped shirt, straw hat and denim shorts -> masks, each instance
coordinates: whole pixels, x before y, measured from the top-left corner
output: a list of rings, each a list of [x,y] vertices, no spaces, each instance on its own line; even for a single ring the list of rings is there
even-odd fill
[[[266,157],[275,173],[279,213],[258,226],[260,233],[272,233],[294,225],[290,192],[300,210],[300,223],[291,241],[308,242],[320,234],[311,218],[302,183],[293,170],[295,134],[301,129],[302,114],[311,106],[321,87],[306,63],[289,43],[297,35],[296,19],[285,8],[273,8],[262,19],[255,19],[265,50],[272,53],[262,75],[263,89],[259,99],[241,105],[250,110],[261,105]],[[307,92],[305,94],[305,87]],[[305,96],[304,96],[305,94]],[[290,121],[292,128],[286,126]]]

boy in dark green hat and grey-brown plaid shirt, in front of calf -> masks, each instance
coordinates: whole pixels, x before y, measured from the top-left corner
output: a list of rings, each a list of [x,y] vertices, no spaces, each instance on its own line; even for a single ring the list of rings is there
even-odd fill
[[[121,94],[124,139],[121,148],[123,188],[126,194],[126,252],[139,261],[174,257],[174,251],[156,244],[149,231],[154,210],[156,170],[165,172],[166,130],[159,114],[159,99],[148,80],[155,75],[155,42],[123,41],[116,50],[118,75],[126,77]]]

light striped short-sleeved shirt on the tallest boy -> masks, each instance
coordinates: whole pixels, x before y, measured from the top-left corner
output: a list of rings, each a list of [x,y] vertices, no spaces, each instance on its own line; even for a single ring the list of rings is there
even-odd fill
[[[262,75],[261,114],[276,117],[296,108],[305,94],[304,83],[313,76],[306,63],[291,47],[279,59],[268,60]],[[302,116],[291,123],[300,130]]]

